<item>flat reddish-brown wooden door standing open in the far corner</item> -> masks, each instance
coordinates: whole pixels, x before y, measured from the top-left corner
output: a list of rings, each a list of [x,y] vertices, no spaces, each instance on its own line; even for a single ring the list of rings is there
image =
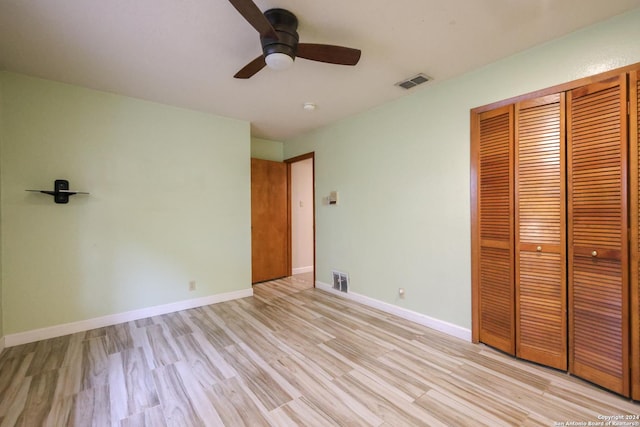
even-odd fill
[[[251,159],[251,282],[289,276],[287,165]]]

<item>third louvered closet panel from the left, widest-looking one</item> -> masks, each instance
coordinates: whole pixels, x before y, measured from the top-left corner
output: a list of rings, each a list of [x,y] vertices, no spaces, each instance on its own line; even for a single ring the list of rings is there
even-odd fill
[[[626,76],[567,106],[569,370],[628,396]]]

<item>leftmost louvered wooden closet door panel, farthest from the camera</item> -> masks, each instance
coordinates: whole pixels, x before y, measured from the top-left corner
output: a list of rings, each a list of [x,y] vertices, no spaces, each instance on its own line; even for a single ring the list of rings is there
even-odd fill
[[[513,106],[480,114],[477,126],[479,340],[515,354]]]

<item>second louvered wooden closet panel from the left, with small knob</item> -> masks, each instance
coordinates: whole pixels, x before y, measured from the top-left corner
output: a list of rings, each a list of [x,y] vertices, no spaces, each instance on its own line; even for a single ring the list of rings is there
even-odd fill
[[[567,369],[565,95],[516,104],[516,355]]]

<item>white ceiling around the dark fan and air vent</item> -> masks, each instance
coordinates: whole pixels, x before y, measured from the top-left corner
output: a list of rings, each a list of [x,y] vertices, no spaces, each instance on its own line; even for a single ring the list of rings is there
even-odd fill
[[[285,140],[420,90],[394,86],[419,72],[449,79],[640,0],[256,4],[296,14],[301,42],[361,49],[360,62],[298,59],[237,80],[261,49],[227,0],[0,0],[0,69],[248,120],[253,136]]]

